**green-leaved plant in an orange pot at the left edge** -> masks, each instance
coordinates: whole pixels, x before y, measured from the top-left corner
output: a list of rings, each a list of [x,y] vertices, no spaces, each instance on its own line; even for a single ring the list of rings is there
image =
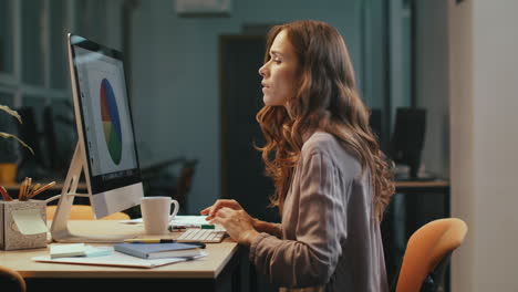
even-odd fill
[[[17,111],[9,108],[7,105],[0,105],[0,112],[4,112],[18,119],[21,124],[22,119]],[[9,123],[7,123],[9,125]],[[8,127],[9,131],[9,127]],[[2,132],[0,129],[0,182],[14,182],[14,178],[18,171],[18,153],[17,147],[7,139],[15,139],[21,145],[27,147],[33,155],[34,152],[32,150],[29,145],[27,145],[23,140],[21,140],[17,135],[10,134],[7,132]]]

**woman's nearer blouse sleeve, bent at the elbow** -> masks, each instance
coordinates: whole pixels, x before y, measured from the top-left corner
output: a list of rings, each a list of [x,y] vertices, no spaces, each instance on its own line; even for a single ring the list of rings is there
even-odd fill
[[[300,176],[297,240],[261,233],[250,246],[250,260],[258,271],[282,286],[323,285],[333,274],[346,237],[344,186],[338,169],[321,153],[310,155]]]

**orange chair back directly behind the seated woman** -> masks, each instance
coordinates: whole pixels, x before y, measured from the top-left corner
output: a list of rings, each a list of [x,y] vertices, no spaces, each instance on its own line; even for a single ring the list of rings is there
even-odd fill
[[[457,218],[431,221],[415,231],[406,244],[395,292],[438,290],[452,252],[466,236],[466,223]]]

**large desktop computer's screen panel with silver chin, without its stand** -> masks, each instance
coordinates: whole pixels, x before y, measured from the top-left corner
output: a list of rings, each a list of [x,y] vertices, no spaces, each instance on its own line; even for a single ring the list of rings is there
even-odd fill
[[[139,204],[143,196],[131,199],[127,189],[120,195],[107,192],[142,181],[123,55],[73,34],[69,45],[77,134],[84,143],[92,205],[97,216],[106,216]],[[115,208],[107,206],[107,195],[127,198],[117,198],[123,201]]]

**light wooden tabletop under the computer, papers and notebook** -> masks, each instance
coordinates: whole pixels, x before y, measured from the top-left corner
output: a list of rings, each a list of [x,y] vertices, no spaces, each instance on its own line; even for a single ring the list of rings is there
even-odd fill
[[[72,232],[86,232],[95,230],[96,234],[138,234],[144,233],[142,225],[123,225],[114,220],[70,221]],[[172,232],[158,238],[176,238],[179,233]],[[142,237],[142,236],[141,236]],[[153,237],[148,237],[153,238]],[[156,238],[156,237],[155,237]],[[59,244],[59,243],[52,243]],[[92,246],[108,246],[94,244]],[[49,254],[50,247],[41,249],[27,249],[0,251],[0,263],[3,267],[19,271],[24,278],[199,278],[216,279],[230,259],[237,254],[238,244],[227,238],[221,243],[207,243],[204,250],[207,257],[187,262],[177,262],[153,269],[138,269],[126,267],[103,267],[85,264],[44,263],[31,260],[35,255]]]

